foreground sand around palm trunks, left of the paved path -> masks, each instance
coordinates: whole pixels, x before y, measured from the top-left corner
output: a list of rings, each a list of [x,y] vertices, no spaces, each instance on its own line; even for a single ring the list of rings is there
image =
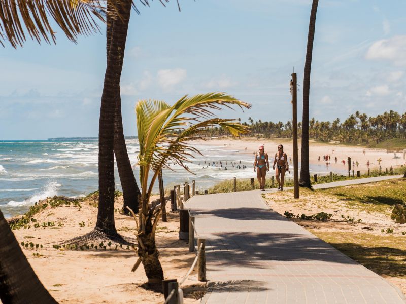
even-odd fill
[[[131,268],[137,260],[134,250],[64,250],[54,249],[54,244],[60,244],[76,236],[90,232],[95,224],[97,208],[86,202],[78,207],[49,206],[33,218],[42,225],[43,222],[55,222],[53,227],[39,227],[13,230],[18,243],[32,242],[41,244],[43,248],[22,248],[31,267],[36,272],[46,289],[59,303],[162,303],[163,294],[143,287],[147,277],[142,265],[135,273]],[[121,208],[122,198],[115,203],[115,208]],[[166,210],[170,209],[170,203]],[[85,223],[80,227],[79,223]],[[58,226],[59,223],[62,226]],[[135,221],[132,217],[115,214],[117,231],[126,237],[134,237]],[[195,253],[188,250],[187,241],[178,238],[179,215],[168,212],[168,221],[160,220],[156,244],[160,253],[165,279],[178,279],[178,282],[189,270]],[[96,245],[96,244],[95,244]],[[105,242],[106,245],[106,242]],[[39,253],[39,257],[33,254]],[[185,303],[198,302],[195,294],[202,296],[201,291],[194,292],[202,285],[197,280],[197,267],[182,286],[186,288]],[[189,292],[187,292],[189,290]]]

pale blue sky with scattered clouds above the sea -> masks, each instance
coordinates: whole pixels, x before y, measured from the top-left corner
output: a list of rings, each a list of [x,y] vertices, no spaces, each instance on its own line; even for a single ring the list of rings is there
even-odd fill
[[[135,0],[138,1],[138,0]],[[121,78],[124,134],[137,135],[140,99],[226,92],[252,104],[223,118],[292,118],[292,72],[303,83],[311,0],[158,0],[131,12]],[[321,0],[310,117],[344,121],[406,111],[406,2]],[[0,140],[97,136],[106,70],[101,32],[56,45],[0,46]],[[302,89],[297,94],[298,121]]]

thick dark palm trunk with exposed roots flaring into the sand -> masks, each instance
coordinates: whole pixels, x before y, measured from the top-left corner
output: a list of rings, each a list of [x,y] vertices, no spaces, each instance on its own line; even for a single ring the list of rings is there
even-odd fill
[[[118,5],[121,18],[113,23],[99,120],[99,206],[96,230],[117,235],[114,223],[114,122],[120,88],[131,1]]]

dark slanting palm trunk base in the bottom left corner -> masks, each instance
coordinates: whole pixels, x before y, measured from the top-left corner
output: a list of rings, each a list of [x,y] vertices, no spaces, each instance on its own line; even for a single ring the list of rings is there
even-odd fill
[[[0,211],[0,300],[3,303],[57,303],[38,279]]]

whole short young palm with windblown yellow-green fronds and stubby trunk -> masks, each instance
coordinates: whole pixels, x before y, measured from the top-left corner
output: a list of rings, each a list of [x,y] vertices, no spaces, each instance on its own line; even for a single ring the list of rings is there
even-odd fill
[[[168,162],[175,162],[186,167],[188,157],[193,153],[200,154],[191,144],[199,139],[200,133],[208,126],[217,125],[227,129],[232,135],[248,133],[247,126],[235,120],[214,117],[213,110],[222,107],[250,108],[251,105],[224,93],[208,93],[193,97],[184,96],[173,106],[164,101],[141,100],[136,106],[138,140],[140,153],[141,210],[137,222],[137,241],[139,259],[133,270],[142,262],[149,283],[160,283],[163,271],[159,262],[159,254],[155,245],[155,230],[158,224],[160,209],[148,208],[152,187],[161,168],[169,168]],[[152,179],[148,184],[148,175],[152,171]],[[136,215],[131,212],[137,221]]]

